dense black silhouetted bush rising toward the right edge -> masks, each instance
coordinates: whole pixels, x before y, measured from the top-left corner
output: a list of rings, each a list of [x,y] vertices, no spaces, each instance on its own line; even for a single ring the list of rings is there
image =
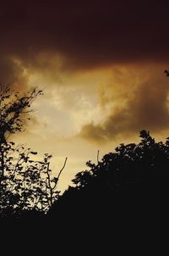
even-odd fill
[[[101,223],[114,218],[122,222],[124,216],[137,214],[143,218],[145,212],[147,216],[160,210],[167,213],[169,138],[155,142],[149,131],[140,131],[140,137],[139,144],[120,144],[98,164],[87,162],[88,170],[75,175],[74,186],[59,197],[52,216],[68,213]]]

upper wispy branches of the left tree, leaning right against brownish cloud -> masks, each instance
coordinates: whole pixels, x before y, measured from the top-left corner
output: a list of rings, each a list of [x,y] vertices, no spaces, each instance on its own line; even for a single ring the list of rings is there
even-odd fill
[[[42,95],[42,91],[36,88],[20,96],[19,92],[11,92],[8,86],[0,86],[0,143],[22,131],[25,117],[30,119],[27,114],[31,112],[31,103],[38,95]]]

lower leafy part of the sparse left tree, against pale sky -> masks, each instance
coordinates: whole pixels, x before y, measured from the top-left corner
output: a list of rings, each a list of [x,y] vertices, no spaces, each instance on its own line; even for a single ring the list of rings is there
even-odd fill
[[[3,155],[2,155],[3,153]],[[52,178],[51,155],[42,161],[30,148],[2,145],[0,154],[0,214],[22,214],[26,210],[46,212],[57,200],[57,178]]]

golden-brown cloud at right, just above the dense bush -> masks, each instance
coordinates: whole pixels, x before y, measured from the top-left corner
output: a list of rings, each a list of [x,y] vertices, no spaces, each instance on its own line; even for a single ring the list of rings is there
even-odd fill
[[[120,70],[119,68],[119,72]],[[153,132],[167,130],[169,81],[162,74],[161,67],[151,66],[148,70],[145,67],[144,74],[140,68],[133,72],[138,73],[134,75],[135,86],[132,86],[131,79],[125,81],[128,77],[127,72],[121,74],[120,80],[117,79],[118,75],[115,72],[112,86],[105,86],[100,101],[102,108],[105,108],[105,104],[114,103],[109,115],[100,124],[90,122],[84,125],[79,135],[91,142],[109,142],[119,136],[132,136],[135,131],[143,129]],[[106,97],[104,102],[102,97],[105,97],[106,91],[109,97]]]

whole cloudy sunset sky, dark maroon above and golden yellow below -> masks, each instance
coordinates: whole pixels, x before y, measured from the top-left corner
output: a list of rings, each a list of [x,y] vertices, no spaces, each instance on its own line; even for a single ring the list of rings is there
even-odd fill
[[[169,136],[167,1],[5,1],[0,81],[38,86],[30,124],[16,141],[52,153],[59,187],[139,131]]]

